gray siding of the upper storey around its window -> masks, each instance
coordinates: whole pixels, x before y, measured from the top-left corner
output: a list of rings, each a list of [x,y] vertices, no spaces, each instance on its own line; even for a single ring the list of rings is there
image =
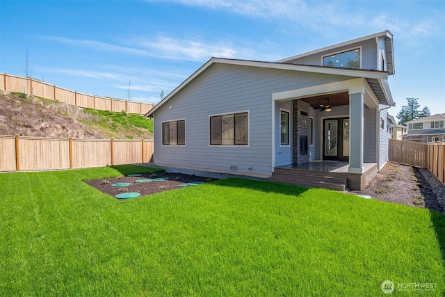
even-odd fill
[[[296,58],[287,63],[296,63],[302,65],[316,65],[321,66],[321,57],[327,54],[332,54],[339,51],[346,51],[348,49],[353,49],[355,47],[362,46],[362,69],[366,70],[378,70],[378,45],[376,45],[375,40],[366,40],[365,42],[356,43],[354,45],[348,45],[346,47],[338,47],[337,49],[332,49],[330,51],[323,51],[318,54],[311,56],[305,56],[302,58]]]

